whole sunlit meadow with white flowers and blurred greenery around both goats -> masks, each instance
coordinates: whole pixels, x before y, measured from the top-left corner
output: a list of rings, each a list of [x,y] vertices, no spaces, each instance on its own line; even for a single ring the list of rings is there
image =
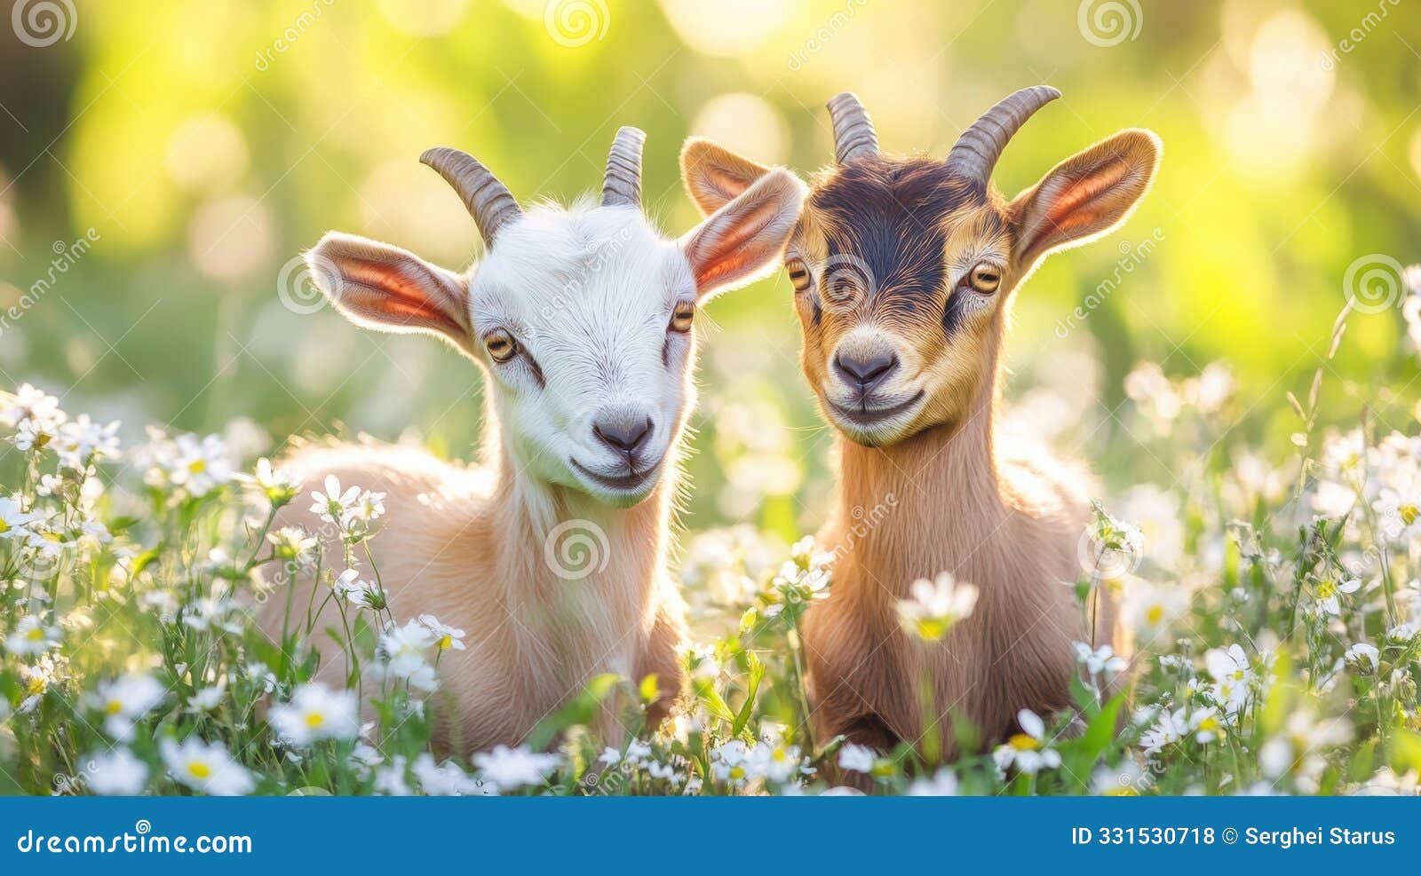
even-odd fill
[[[0,43],[0,794],[1415,794],[1412,10],[938,6],[125,3],[81,6],[53,38],[17,16]],[[365,562],[384,497],[294,483],[281,459],[367,433],[469,459],[483,389],[448,351],[347,325],[300,251],[341,227],[468,264],[468,216],[416,160],[443,142],[519,199],[566,203],[611,132],[641,125],[645,197],[679,231],[689,133],[807,175],[843,88],[885,148],[936,155],[1040,81],[1064,98],[1013,141],[1003,187],[1123,126],[1165,143],[1138,213],[1013,302],[1000,425],[1096,473],[1061,586],[1086,618],[1115,601],[1128,633],[1077,643],[1073,708],[1023,713],[990,745],[961,720],[891,752],[814,737],[800,625],[834,586],[813,540],[833,430],[779,271],[696,321],[672,718],[648,726],[658,679],[605,674],[519,747],[436,744],[455,706],[439,667],[486,630],[396,615]],[[324,525],[276,525],[286,505]],[[564,535],[549,562],[601,562],[595,531]],[[973,611],[971,581],[912,592],[898,615],[922,647]],[[253,622],[270,601],[280,640]],[[315,680],[323,659],[342,683]],[[590,730],[604,708],[617,738]]]

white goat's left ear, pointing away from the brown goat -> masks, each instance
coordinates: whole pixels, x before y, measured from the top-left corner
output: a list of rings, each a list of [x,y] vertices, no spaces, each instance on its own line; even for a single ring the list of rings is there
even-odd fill
[[[426,332],[472,352],[469,281],[389,244],[328,233],[306,254],[315,285],[351,322]]]

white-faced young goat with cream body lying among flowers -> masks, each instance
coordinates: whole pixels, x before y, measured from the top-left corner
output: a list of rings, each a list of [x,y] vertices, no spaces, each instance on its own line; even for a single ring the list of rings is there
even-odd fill
[[[695,403],[692,319],[709,295],[773,268],[804,189],[772,172],[666,240],[641,212],[644,139],[635,128],[617,133],[600,204],[527,213],[472,156],[426,152],[421,160],[458,190],[486,244],[465,274],[338,233],[308,256],[351,321],[438,335],[487,371],[477,467],[369,443],[286,460],[308,486],[334,474],[385,493],[371,547],[391,609],[470,635],[468,650],[439,663],[458,699],[441,737],[466,751],[522,741],[601,672],[655,674],[652,721],[682,687],[682,603],[665,554]],[[304,505],[279,522],[315,531]],[[263,609],[273,636],[277,603]]]

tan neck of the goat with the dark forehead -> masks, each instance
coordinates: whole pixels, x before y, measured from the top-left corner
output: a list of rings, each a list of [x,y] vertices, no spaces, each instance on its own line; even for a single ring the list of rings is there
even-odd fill
[[[888,447],[838,436],[840,486],[823,544],[844,572],[836,586],[843,579],[867,595],[902,598],[915,578],[958,572],[986,542],[1009,537],[995,403],[993,369],[959,423]]]

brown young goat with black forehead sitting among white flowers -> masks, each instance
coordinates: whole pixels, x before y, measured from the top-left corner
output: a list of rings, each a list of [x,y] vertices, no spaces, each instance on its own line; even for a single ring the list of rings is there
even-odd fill
[[[990,743],[1022,708],[1069,706],[1073,642],[1093,639],[1070,586],[1083,575],[1087,481],[996,433],[1000,345],[1012,291],[1046,253],[1124,221],[1150,187],[1160,141],[1123,131],[1007,202],[992,168],[1056,97],[1044,87],[1013,94],[946,160],[884,158],[853,95],[828,104],[837,160],[814,180],[786,248],[804,376],[843,434],[837,500],[820,532],[821,547],[837,548],[834,584],[804,622],[820,738],[887,751],[936,728],[951,755],[959,718]],[[703,212],[766,172],[706,141],[682,150]],[[976,585],[979,599],[924,646],[904,633],[897,603],[915,579],[944,571]],[[1108,642],[1113,626],[1107,599],[1094,637]]]

